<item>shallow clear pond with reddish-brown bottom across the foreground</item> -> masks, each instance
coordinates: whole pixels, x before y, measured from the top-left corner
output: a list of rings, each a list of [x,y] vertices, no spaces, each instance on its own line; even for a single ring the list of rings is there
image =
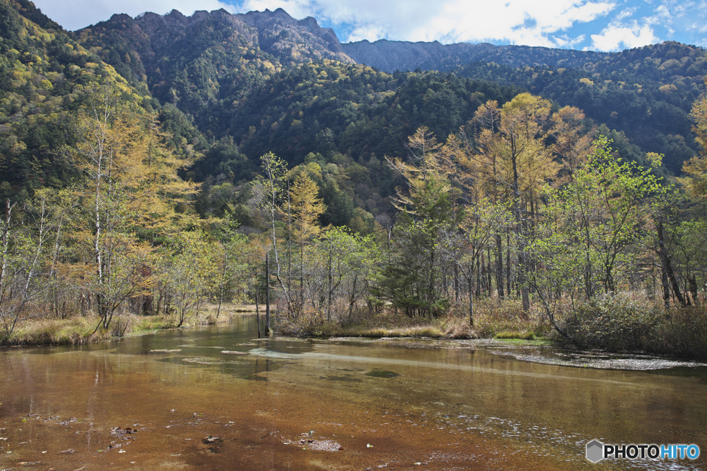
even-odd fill
[[[254,333],[243,316],[0,351],[0,470],[706,469],[705,367],[577,368],[487,347]],[[696,443],[703,455],[592,465],[592,439]]]

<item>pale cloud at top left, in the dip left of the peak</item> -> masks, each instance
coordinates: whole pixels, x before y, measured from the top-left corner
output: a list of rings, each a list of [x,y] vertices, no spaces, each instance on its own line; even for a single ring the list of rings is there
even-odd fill
[[[173,9],[185,15],[197,10],[218,10],[224,8],[235,12],[235,7],[218,0],[33,0],[42,13],[62,25],[67,30],[78,30],[90,24],[110,18],[114,13],[138,16],[145,11],[169,13]]]

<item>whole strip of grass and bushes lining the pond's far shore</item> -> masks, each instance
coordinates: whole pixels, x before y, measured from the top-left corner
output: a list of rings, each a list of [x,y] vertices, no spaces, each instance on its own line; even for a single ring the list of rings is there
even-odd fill
[[[217,316],[216,305],[206,306],[187,318],[180,328],[228,323],[239,314],[255,314],[255,306],[224,304]],[[264,313],[261,310],[264,329]],[[288,316],[276,312],[272,328],[284,335],[310,338],[435,338],[518,339],[579,350],[630,352],[707,359],[707,305],[665,308],[636,295],[614,295],[575,304],[557,304],[555,329],[547,311],[537,303],[522,311],[514,299],[484,299],[474,307],[469,323],[464,304],[452,306],[437,317],[409,317],[395,309],[371,313],[366,309],[352,316],[327,318],[322,312]],[[35,318],[23,321],[11,335],[0,330],[0,346],[85,345],[103,340],[145,335],[177,328],[173,316],[116,316],[109,329],[98,329],[95,316]],[[95,332],[94,332],[95,331]],[[564,335],[563,335],[564,334]]]

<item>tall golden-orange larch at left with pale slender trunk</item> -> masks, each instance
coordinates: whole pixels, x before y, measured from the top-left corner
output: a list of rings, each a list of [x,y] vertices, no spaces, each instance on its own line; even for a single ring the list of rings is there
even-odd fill
[[[177,175],[191,162],[165,145],[153,116],[124,102],[117,88],[92,85],[74,121],[76,145],[65,148],[85,179],[77,188],[79,244],[90,251],[77,269],[95,294],[98,315],[108,328],[112,313],[143,283],[148,246],[138,232],[175,232],[193,222],[185,197],[198,186]],[[90,249],[89,249],[90,244]],[[143,275],[136,275],[140,272]],[[98,329],[98,326],[97,326]]]

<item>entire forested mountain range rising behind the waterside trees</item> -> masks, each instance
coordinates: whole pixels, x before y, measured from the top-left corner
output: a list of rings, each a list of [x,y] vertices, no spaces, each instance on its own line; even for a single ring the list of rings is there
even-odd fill
[[[27,0],[0,0],[0,13],[1,196],[76,177],[57,148],[70,143],[66,123],[81,87],[100,81],[158,112],[174,148],[199,157],[184,176],[204,182],[202,214],[247,199],[258,157],[273,151],[291,167],[318,166],[329,207],[322,220],[370,222],[399,183],[382,157],[406,155],[419,126],[443,140],[481,103],[523,90],[584,109],[586,128],[599,126],[628,160],[663,153],[677,174],[697,148],[689,112],[705,90],[707,61],[686,44],[610,54],[341,44],[314,18],[282,9],[117,14],[76,32]]]

